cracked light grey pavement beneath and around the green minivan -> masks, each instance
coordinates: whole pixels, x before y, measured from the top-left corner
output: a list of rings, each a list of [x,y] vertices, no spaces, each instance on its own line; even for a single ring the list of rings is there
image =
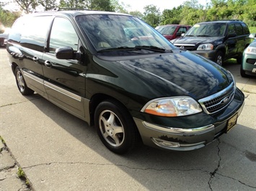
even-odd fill
[[[192,152],[141,144],[120,156],[84,121],[40,95],[22,96],[0,49],[0,190],[256,190],[256,78],[242,78],[234,63],[224,67],[246,96],[228,134]],[[16,182],[17,167],[30,188]]]

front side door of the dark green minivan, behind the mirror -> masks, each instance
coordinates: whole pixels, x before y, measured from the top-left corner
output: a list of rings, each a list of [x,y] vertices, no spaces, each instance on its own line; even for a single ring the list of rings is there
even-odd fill
[[[79,37],[68,19],[56,17],[50,31],[48,52],[43,55],[45,90],[50,101],[76,116],[84,118],[86,67],[79,60],[60,60],[55,52],[59,47],[78,51]]]

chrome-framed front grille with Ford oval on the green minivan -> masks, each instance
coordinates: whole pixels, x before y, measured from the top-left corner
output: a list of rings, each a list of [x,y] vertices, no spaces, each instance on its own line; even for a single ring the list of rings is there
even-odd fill
[[[199,100],[200,105],[206,113],[216,113],[228,104],[234,98],[234,83],[229,85],[228,88],[221,90],[221,92],[208,96]]]

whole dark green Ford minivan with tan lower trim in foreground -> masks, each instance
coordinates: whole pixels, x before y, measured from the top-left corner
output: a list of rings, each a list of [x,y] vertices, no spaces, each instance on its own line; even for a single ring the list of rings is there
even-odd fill
[[[128,14],[30,14],[14,23],[6,50],[22,95],[36,92],[95,126],[118,154],[140,140],[199,149],[228,132],[244,105],[229,71]]]

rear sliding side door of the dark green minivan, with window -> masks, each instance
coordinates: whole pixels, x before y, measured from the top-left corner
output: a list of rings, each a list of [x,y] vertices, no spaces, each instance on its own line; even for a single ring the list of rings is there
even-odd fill
[[[45,98],[47,95],[43,85],[42,58],[51,21],[51,16],[30,17],[22,21],[24,24],[19,26],[19,30],[22,31],[20,35],[20,51],[22,52],[20,69],[27,86]]]

